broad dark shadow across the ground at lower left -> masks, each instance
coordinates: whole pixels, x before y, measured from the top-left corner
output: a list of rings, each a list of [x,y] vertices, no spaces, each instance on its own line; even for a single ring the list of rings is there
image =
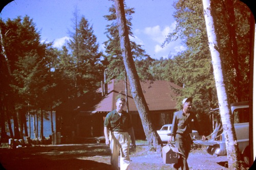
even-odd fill
[[[0,162],[4,169],[111,169],[111,165],[81,157],[109,156],[105,145],[55,145],[1,149]]]

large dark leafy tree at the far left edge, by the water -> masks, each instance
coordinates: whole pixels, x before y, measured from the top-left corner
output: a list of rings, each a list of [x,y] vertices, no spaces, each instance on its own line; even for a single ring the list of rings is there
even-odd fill
[[[28,16],[23,19],[8,19],[2,22],[2,31],[5,33],[4,43],[5,54],[10,61],[14,123],[18,122],[19,135],[17,135],[17,125],[14,125],[14,137],[23,139],[23,127],[26,129],[26,112],[28,104],[31,106],[44,106],[44,93],[48,89],[45,60],[45,44],[40,43],[40,35],[35,29],[33,20]],[[8,107],[8,106],[6,106]],[[10,107],[11,108],[11,107]],[[17,121],[15,120],[17,118]]]

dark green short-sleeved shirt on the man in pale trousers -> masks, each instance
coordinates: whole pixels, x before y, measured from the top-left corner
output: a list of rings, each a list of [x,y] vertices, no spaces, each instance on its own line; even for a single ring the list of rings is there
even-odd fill
[[[107,127],[111,131],[128,132],[128,129],[132,128],[130,114],[122,111],[120,116],[116,110],[113,110],[106,115],[104,127]]]

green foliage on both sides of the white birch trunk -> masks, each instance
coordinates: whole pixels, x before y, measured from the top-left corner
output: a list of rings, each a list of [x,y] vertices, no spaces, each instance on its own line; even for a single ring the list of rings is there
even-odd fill
[[[232,55],[231,37],[225,6],[214,3],[217,9],[215,14],[219,47],[224,57],[226,72],[225,84],[228,89],[230,103],[246,101],[249,96],[249,10],[240,1],[234,1],[236,41],[238,44],[238,68],[235,70],[234,56]],[[209,108],[218,107],[215,81],[212,73],[211,56],[208,47],[202,1],[176,1],[174,13],[177,22],[176,29],[170,33],[163,45],[180,38],[186,51],[167,60],[155,61],[151,66],[156,79],[168,80],[184,88],[178,101],[193,96],[196,111],[203,113]],[[246,50],[245,50],[246,49]],[[164,73],[163,73],[164,72]],[[237,75],[240,72],[240,77]],[[240,79],[241,78],[241,79]],[[240,93],[237,92],[239,89]],[[239,95],[239,96],[238,96]],[[179,109],[179,108],[177,108]]]

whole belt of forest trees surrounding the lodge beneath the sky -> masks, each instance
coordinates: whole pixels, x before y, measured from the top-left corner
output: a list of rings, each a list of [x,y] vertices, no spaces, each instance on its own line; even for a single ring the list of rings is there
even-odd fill
[[[250,24],[253,16],[240,1],[234,1],[234,15],[226,10],[226,4],[214,4],[220,41],[218,48],[224,61],[229,103],[248,101]],[[169,33],[162,45],[179,38],[186,50],[168,59],[156,60],[146,54],[142,45],[131,41],[136,69],[141,81],[165,80],[183,87],[180,90],[170,87],[180,94],[175,100],[180,102],[184,97],[193,96],[194,110],[199,119],[204,120],[210,108],[218,107],[218,99],[202,1],[175,1],[174,8],[176,29]],[[132,14],[135,12],[125,6],[130,36],[133,36]],[[108,69],[108,80],[124,79],[114,6],[109,7],[109,14],[104,18],[109,22],[106,25],[108,40],[104,42],[104,53],[99,51],[93,26],[76,10],[74,29],[70,32],[72,38],[61,50],[54,48],[51,42],[40,41],[40,32],[36,30],[33,18],[0,18],[2,142],[9,138],[7,131],[16,139],[30,136],[31,129],[28,130],[26,124],[30,116],[33,117],[35,137],[43,138],[43,126],[40,126],[39,135],[38,121],[43,125],[43,117],[50,116],[51,119],[54,108],[63,101],[99,88],[105,69]],[[234,36],[236,41],[232,40]]]

